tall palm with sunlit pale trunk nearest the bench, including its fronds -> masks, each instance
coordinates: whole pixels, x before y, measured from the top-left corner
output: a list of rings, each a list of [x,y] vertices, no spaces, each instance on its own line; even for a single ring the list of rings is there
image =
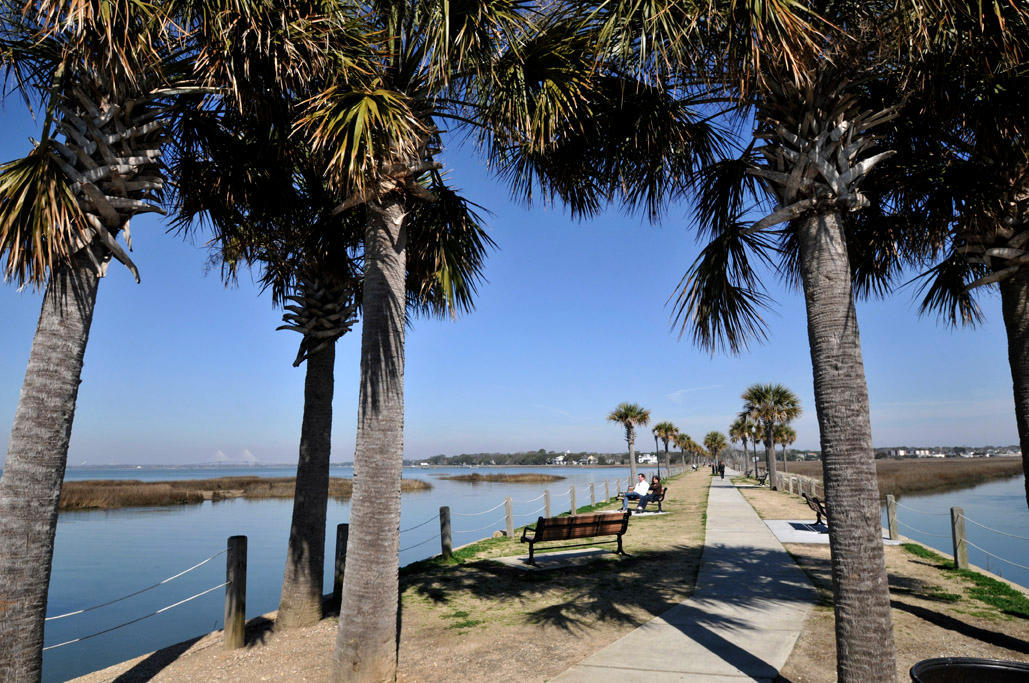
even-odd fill
[[[666,106],[645,80],[598,68],[592,38],[568,19],[574,7],[547,8],[508,0],[374,3],[361,17],[387,38],[369,60],[372,84],[356,92],[330,80],[301,121],[329,154],[346,196],[338,210],[366,206],[368,217],[348,544],[356,571],[344,579],[341,609],[351,616],[340,622],[336,679],[395,676],[403,292],[407,249],[418,247],[405,221],[415,200],[431,196],[417,179],[441,166],[439,131],[477,135],[516,192],[542,187],[579,214],[615,197],[657,206],[670,179],[679,182],[696,163],[696,150],[710,149],[698,135],[710,128],[704,116]],[[643,114],[663,123],[651,127],[660,134],[649,142],[631,124]]]

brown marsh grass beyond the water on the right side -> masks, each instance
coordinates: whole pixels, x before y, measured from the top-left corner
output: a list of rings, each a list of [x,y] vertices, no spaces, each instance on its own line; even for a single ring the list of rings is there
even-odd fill
[[[790,474],[822,478],[821,462],[789,463]],[[1022,474],[1021,458],[946,458],[943,460],[877,460],[879,495],[964,489]]]

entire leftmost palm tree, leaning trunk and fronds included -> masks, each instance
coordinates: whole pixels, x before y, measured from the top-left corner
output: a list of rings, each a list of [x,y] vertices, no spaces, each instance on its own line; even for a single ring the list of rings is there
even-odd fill
[[[58,502],[100,278],[139,280],[133,216],[159,212],[169,87],[182,75],[161,3],[0,9],[0,63],[42,131],[0,168],[4,278],[45,283],[0,478],[0,679],[38,680]]]

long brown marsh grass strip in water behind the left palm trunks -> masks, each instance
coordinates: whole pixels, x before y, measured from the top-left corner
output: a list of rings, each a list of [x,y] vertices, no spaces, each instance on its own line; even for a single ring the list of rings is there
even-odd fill
[[[226,498],[292,498],[296,480],[291,476],[222,476],[212,479],[140,481],[138,479],[92,479],[66,481],[61,491],[62,510],[114,509],[155,505],[189,505],[205,500]],[[403,479],[402,491],[425,491],[432,484],[421,479]],[[342,477],[329,479],[329,496],[347,500],[353,481]]]

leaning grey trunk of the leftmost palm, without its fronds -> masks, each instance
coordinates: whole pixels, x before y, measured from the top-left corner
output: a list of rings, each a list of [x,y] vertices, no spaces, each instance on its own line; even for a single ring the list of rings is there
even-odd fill
[[[58,504],[99,280],[50,275],[0,477],[0,681],[38,681]]]

